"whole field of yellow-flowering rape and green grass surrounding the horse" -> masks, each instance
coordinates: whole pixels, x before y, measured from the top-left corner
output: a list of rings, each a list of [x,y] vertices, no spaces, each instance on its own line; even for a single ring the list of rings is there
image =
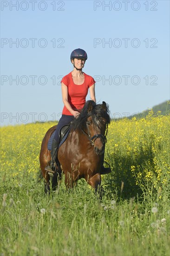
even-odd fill
[[[39,151],[53,125],[1,128],[0,255],[169,256],[170,115],[111,121],[102,202],[84,180],[44,195]]]

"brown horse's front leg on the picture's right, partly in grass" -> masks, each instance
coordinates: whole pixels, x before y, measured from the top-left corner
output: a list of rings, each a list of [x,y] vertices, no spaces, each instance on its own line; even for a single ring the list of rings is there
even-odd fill
[[[95,189],[95,192],[96,194],[98,193],[99,198],[102,199],[104,189],[101,186],[101,175],[97,173],[94,176],[90,177],[87,182],[89,185],[92,186],[93,189]]]

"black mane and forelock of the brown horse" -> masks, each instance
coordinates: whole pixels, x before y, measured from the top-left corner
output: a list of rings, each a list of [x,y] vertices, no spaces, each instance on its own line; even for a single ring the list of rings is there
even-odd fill
[[[72,121],[72,129],[78,131],[84,129],[89,116],[92,116],[92,121],[96,126],[101,126],[101,123],[103,122],[102,118],[106,120],[107,124],[110,123],[109,107],[107,104],[105,104],[105,108],[103,108],[103,104],[96,104],[94,101],[86,101],[78,118],[75,118],[74,121]]]

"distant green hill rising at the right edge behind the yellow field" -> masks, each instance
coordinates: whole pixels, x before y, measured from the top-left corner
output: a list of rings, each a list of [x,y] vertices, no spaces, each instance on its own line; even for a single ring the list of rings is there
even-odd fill
[[[158,104],[156,106],[154,106],[153,108],[148,108],[147,110],[144,110],[142,113],[138,113],[137,115],[130,115],[127,118],[131,119],[132,117],[136,117],[136,118],[143,118],[146,117],[148,115],[148,113],[150,112],[150,110],[152,109],[153,111],[153,115],[169,115],[170,114],[170,101],[164,101],[161,104]],[[161,112],[158,112],[161,111]]]

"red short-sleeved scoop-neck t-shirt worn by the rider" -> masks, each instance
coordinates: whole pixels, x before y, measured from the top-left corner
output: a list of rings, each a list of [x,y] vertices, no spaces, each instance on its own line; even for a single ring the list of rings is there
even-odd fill
[[[95,81],[92,76],[85,74],[85,81],[83,84],[77,85],[73,82],[72,72],[65,75],[61,80],[68,87],[68,102],[73,110],[82,109],[85,105],[85,98],[88,93],[89,87],[91,87]],[[70,111],[64,106],[63,115],[72,115]]]

